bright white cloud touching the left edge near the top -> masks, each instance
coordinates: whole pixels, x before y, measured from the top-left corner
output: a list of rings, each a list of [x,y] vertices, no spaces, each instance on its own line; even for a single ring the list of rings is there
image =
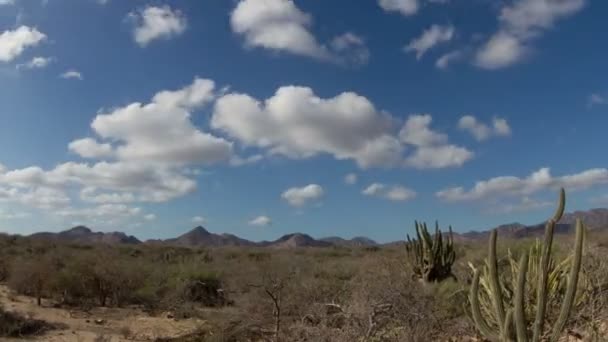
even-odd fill
[[[36,46],[45,39],[44,33],[29,26],[20,26],[15,30],[0,33],[0,62],[12,61],[25,49]]]

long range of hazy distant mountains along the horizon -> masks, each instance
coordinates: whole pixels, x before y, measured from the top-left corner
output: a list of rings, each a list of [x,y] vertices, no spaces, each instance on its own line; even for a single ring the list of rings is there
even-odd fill
[[[608,229],[608,209],[591,209],[588,211],[576,211],[567,213],[556,226],[557,234],[568,234],[574,231],[574,224],[577,218],[581,218],[590,230]],[[542,236],[544,233],[544,223],[535,225],[523,225],[521,223],[510,223],[496,227],[498,233],[503,238],[520,239],[526,237]],[[485,240],[490,234],[490,230],[470,231],[467,233],[454,233],[457,241],[476,241]],[[340,237],[327,237],[315,239],[303,233],[288,234],[274,241],[253,242],[242,239],[232,234],[215,234],[209,232],[202,226],[198,226],[191,231],[173,239],[166,240],[147,240],[140,241],[136,237],[122,232],[93,232],[91,229],[78,226],[59,233],[35,233],[29,236],[31,239],[64,241],[72,243],[105,243],[105,244],[161,244],[182,247],[224,247],[224,246],[257,246],[268,248],[297,248],[297,247],[366,247],[379,245],[376,241],[366,237],[355,237],[347,240]],[[385,245],[398,244],[401,241],[388,243]]]

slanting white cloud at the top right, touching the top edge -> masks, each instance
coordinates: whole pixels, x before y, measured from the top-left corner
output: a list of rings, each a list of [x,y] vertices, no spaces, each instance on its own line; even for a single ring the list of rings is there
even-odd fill
[[[512,65],[526,56],[533,40],[559,19],[580,11],[585,0],[518,0],[502,8],[500,28],[476,54],[475,63],[486,69]]]

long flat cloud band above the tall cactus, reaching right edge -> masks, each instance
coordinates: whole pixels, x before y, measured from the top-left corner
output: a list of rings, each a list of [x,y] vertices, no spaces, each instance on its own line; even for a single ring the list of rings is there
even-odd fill
[[[445,201],[475,201],[504,196],[528,196],[546,189],[564,187],[568,191],[608,184],[608,169],[589,169],[577,174],[553,177],[549,168],[541,168],[526,178],[501,176],[479,181],[470,190],[453,187],[441,190],[436,196]]]

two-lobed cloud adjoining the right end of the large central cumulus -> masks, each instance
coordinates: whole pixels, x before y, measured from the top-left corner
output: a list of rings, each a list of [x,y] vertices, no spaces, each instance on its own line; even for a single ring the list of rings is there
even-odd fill
[[[473,152],[449,144],[447,135],[432,130],[432,120],[430,114],[410,115],[399,132],[402,142],[415,147],[405,159],[405,166],[419,169],[456,167],[473,158]]]

